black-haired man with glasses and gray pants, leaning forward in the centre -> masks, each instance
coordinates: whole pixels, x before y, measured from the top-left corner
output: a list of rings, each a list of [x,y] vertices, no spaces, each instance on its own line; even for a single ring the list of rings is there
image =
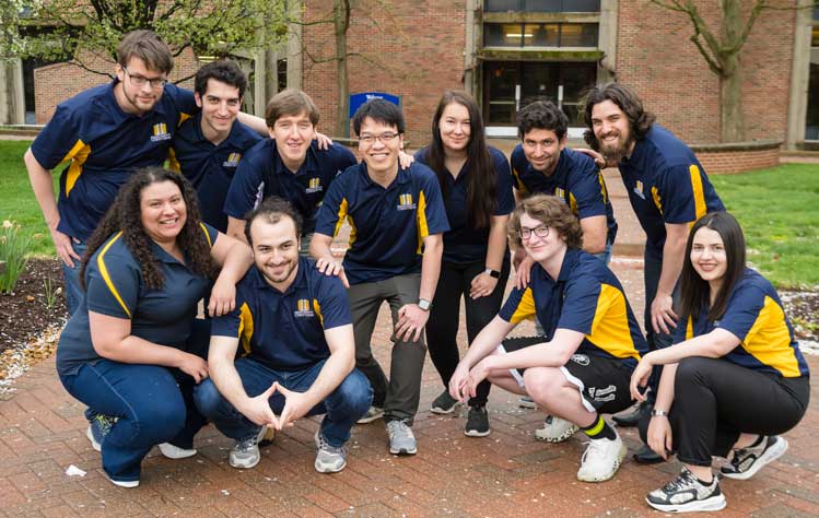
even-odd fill
[[[363,162],[330,186],[318,211],[311,255],[326,274],[350,285],[355,329],[355,365],[373,385],[365,422],[384,415],[389,451],[417,451],[412,420],[423,368],[423,329],[441,272],[443,233],[449,229],[437,177],[424,165],[401,167],[405,131],[401,109],[384,99],[365,103],[353,117]],[[343,266],[330,244],[347,221],[352,231]],[[373,357],[370,340],[383,302],[395,325],[389,382]]]

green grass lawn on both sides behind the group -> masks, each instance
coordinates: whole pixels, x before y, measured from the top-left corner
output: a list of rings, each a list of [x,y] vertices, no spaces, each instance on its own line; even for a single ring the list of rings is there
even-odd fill
[[[0,141],[0,220],[15,220],[39,236],[32,255],[54,255],[23,164],[28,144]],[[819,286],[819,164],[714,175],[711,180],[742,225],[754,268],[781,287]]]

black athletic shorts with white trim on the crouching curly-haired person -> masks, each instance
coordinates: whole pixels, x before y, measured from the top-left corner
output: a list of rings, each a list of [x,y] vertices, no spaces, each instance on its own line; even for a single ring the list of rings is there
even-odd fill
[[[502,353],[511,353],[546,341],[545,337],[512,338],[504,340],[498,350]],[[522,388],[526,388],[523,378],[524,370],[522,368],[510,369]],[[583,405],[589,412],[613,414],[633,404],[629,391],[632,369],[623,365],[621,360],[574,354],[565,365],[560,367],[560,370],[571,384],[577,387]]]

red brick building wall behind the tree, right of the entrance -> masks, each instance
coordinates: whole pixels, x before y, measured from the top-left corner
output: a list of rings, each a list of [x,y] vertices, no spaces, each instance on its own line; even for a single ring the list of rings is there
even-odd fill
[[[718,34],[717,2],[695,3]],[[751,2],[742,3],[747,11]],[[793,7],[794,1],[771,3]],[[719,137],[719,82],[689,40],[692,30],[688,19],[645,0],[620,0],[618,5],[618,81],[633,85],[658,121],[683,141],[715,142]],[[742,49],[749,140],[785,138],[795,16],[793,10],[763,11]]]

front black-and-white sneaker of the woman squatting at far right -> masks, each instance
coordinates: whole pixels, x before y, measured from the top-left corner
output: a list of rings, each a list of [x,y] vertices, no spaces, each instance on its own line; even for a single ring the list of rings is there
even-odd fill
[[[650,506],[664,513],[691,513],[725,508],[725,495],[719,491],[717,478],[704,485],[688,468],[680,475],[645,496]]]

